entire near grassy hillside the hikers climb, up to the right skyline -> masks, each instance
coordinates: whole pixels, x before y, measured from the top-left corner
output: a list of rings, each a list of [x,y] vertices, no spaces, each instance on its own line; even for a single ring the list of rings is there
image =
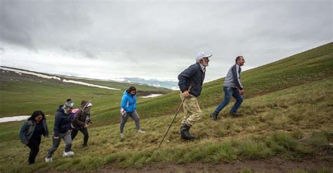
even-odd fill
[[[179,139],[179,123],[183,117],[183,113],[180,113],[162,147],[157,149],[181,102],[178,91],[158,98],[142,99],[138,104],[138,113],[146,133],[137,134],[133,121],[129,121],[125,126],[124,140],[119,139],[119,105],[103,102],[106,96],[101,95],[97,99],[100,103],[92,109],[92,118],[96,123],[89,127],[88,148],[81,147],[82,135],[78,134],[72,146],[74,157],[61,157],[64,148],[62,142],[53,155],[53,162],[46,164],[44,158],[51,147],[51,139],[43,139],[34,167],[27,167],[29,149],[18,141],[17,133],[22,122],[1,123],[0,150],[3,152],[0,172],[20,172],[22,169],[27,172],[37,169],[41,172],[50,169],[103,169],[109,164],[122,168],[141,168],[155,163],[233,163],[237,160],[274,157],[301,162],[303,158],[332,156],[332,48],[332,43],[326,44],[243,72],[242,83],[246,99],[240,108],[240,113],[243,114],[241,117],[230,117],[227,114],[232,106],[230,104],[221,112],[223,119],[212,121],[209,113],[221,101],[223,79],[204,84],[199,98],[203,117],[191,129],[192,134],[197,136],[192,142]],[[44,94],[42,88],[39,89],[41,95]],[[64,88],[68,89],[67,86]],[[12,92],[15,89],[21,91],[15,85],[8,88]],[[56,89],[53,91],[58,94]],[[83,89],[79,91],[81,94],[85,92]],[[89,96],[96,96],[96,93],[104,91],[96,90],[95,93],[89,93]],[[114,96],[117,97],[116,94]],[[42,98],[46,99],[45,96]],[[117,104],[117,101],[113,103]],[[47,118],[52,131],[53,115]],[[333,161],[332,158],[330,161]],[[318,168],[322,168],[323,172],[333,170],[332,164]]]

